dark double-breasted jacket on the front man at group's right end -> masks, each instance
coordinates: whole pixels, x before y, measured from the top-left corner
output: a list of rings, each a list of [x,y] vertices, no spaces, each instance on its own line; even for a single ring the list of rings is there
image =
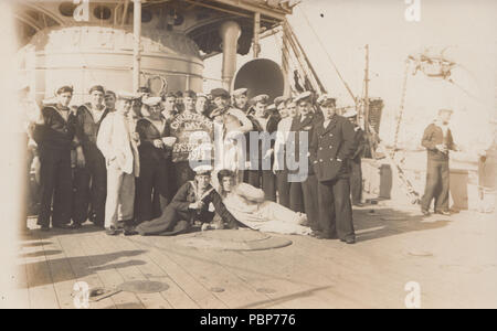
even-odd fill
[[[310,161],[318,181],[347,178],[347,162],[356,151],[356,131],[347,118],[335,115],[326,128],[324,120],[317,122],[310,142]]]

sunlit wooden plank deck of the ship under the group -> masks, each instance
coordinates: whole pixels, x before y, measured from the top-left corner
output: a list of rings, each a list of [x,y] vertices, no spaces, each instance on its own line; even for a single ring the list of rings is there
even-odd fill
[[[305,236],[266,250],[198,249],[173,237],[109,237],[34,229],[18,255],[19,308],[74,308],[74,284],[169,286],[121,291],[89,308],[405,308],[416,281],[421,308],[497,308],[495,214],[422,217],[393,202],[355,210],[356,245]]]

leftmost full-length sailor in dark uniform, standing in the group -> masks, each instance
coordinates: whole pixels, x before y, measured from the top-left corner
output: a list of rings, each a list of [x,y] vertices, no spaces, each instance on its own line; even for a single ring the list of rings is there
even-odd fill
[[[41,207],[38,224],[42,231],[50,228],[51,216],[53,227],[66,227],[71,222],[71,148],[76,118],[68,104],[73,97],[73,88],[63,86],[57,89],[56,95],[56,105],[44,107],[43,118],[36,121],[33,128],[33,139],[38,143],[41,162]]]

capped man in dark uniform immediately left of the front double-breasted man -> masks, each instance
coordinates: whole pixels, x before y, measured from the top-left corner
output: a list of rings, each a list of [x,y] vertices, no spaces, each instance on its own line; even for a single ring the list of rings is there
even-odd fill
[[[297,163],[300,158],[307,158],[307,154],[300,154],[300,132],[307,132],[307,142],[309,142],[316,122],[310,99],[310,92],[305,92],[295,98],[299,114],[292,121],[287,153]],[[292,135],[294,137],[290,137]],[[299,173],[299,170],[289,170],[288,172],[296,174]],[[305,212],[313,231],[318,231],[317,180],[310,163],[308,163],[307,173],[304,175],[305,178],[302,181],[295,181],[290,184],[290,210]]]

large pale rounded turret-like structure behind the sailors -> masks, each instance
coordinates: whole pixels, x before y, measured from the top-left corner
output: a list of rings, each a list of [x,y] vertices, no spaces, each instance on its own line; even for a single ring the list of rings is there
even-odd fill
[[[133,89],[133,46],[129,29],[44,29],[20,50],[20,68],[38,102],[68,84],[75,90],[73,103],[81,104],[96,84],[114,92]],[[197,44],[182,33],[144,29],[140,73],[140,85],[156,95],[202,89],[203,62]]]

